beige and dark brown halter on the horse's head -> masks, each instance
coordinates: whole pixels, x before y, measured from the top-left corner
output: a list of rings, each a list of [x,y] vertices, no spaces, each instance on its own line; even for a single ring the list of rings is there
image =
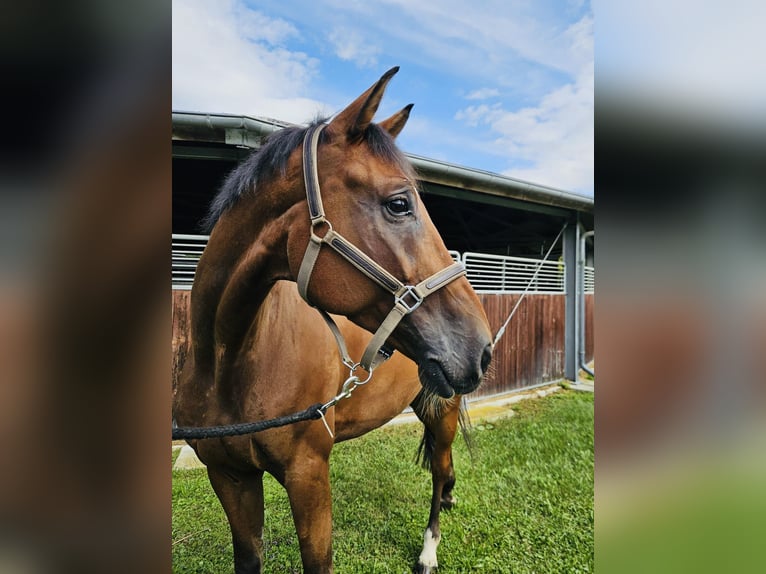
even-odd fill
[[[405,316],[417,309],[423,302],[423,299],[428,295],[438,291],[458,277],[465,275],[465,267],[462,263],[455,262],[424,279],[417,285],[405,285],[358,249],[353,243],[337,233],[333,229],[332,224],[325,217],[324,207],[322,206],[322,196],[319,190],[319,176],[317,174],[319,134],[324,127],[325,124],[312,126],[309,128],[308,132],[306,132],[306,136],[303,140],[303,177],[306,184],[306,199],[309,207],[309,217],[311,218],[311,239],[306,247],[306,253],[303,256],[303,261],[298,271],[298,291],[300,292],[301,297],[311,305],[311,302],[308,300],[308,287],[309,282],[311,281],[311,273],[314,270],[314,265],[319,257],[319,251],[322,248],[322,245],[327,245],[359,271],[364,273],[364,275],[394,296],[394,307],[380,324],[378,330],[375,331],[375,334],[367,345],[359,363],[354,363],[349,357],[343,335],[335,324],[335,321],[333,321],[332,317],[330,317],[326,311],[319,309],[319,312],[335,337],[343,363],[346,364],[352,372],[356,367],[361,366],[371,375],[375,367],[391,355],[390,352],[384,351],[384,345],[388,337],[394,329],[396,329],[399,322]]]

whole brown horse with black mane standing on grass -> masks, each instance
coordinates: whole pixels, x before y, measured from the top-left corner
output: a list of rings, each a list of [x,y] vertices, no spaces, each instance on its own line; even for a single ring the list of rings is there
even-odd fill
[[[262,568],[264,472],[287,491],[304,571],[332,572],[333,444],[379,427],[408,404],[425,423],[425,458],[433,474],[417,568],[430,572],[437,565],[439,508],[451,505],[455,481],[451,444],[459,398],[479,385],[491,334],[476,294],[455,273],[418,196],[412,167],[393,143],[412,106],[372,122],[396,71],[321,133],[310,126],[270,136],[232,172],[211,208],[215,226],[195,276],[190,353],[174,401],[179,425],[266,420],[339,394],[349,369],[335,338],[295,285],[281,280],[299,281],[313,305],[343,316],[336,319],[348,355],[361,355],[368,331],[378,329],[383,334],[377,339],[385,340],[365,352],[367,359],[374,356],[362,361],[370,382],[328,409],[324,421],[189,441],[229,520],[238,573]],[[302,153],[307,133],[316,134],[313,156],[305,143]],[[311,170],[316,193],[322,190],[319,210],[309,189]],[[343,233],[342,241],[331,237],[334,231]],[[319,251],[322,242],[333,249]],[[311,256],[309,243],[319,246]],[[302,264],[304,255],[308,264]],[[383,342],[401,354],[378,365]]]

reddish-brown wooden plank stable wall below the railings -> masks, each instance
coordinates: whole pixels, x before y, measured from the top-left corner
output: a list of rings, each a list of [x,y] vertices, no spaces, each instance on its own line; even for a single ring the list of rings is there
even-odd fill
[[[178,374],[188,352],[190,291],[173,291],[173,373],[175,389]],[[479,299],[496,333],[519,294],[480,294]],[[593,358],[594,296],[586,295],[586,360]],[[564,295],[527,295],[498,342],[490,375],[473,394],[488,396],[564,376]]]

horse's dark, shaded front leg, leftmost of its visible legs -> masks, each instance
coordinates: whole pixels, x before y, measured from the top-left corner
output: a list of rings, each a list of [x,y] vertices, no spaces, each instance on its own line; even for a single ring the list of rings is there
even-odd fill
[[[208,467],[210,484],[231,527],[234,572],[260,574],[263,568],[263,472],[241,476]]]

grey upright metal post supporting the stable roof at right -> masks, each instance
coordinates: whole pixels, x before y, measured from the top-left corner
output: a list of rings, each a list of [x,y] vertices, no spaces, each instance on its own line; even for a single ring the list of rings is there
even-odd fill
[[[564,230],[564,291],[566,310],[564,312],[564,378],[577,380],[579,350],[579,317],[577,305],[577,252],[580,246],[579,215]]]

